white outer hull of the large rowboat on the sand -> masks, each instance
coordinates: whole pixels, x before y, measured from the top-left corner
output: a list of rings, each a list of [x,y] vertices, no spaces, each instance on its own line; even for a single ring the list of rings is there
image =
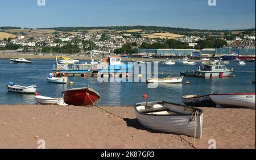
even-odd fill
[[[151,103],[165,103],[163,106],[166,108],[177,106],[177,110],[180,111],[191,109],[191,107],[188,106],[181,106],[168,102]],[[153,129],[158,132],[174,133],[176,135],[187,135],[189,137],[194,137],[196,130],[196,138],[201,138],[203,126],[203,110],[201,110],[201,113],[199,116],[197,116],[197,119],[195,115],[192,115],[193,111],[184,115],[145,114],[138,110],[138,106],[145,104],[146,103],[138,103],[135,105],[135,115],[137,116],[138,122],[141,123],[143,127]]]

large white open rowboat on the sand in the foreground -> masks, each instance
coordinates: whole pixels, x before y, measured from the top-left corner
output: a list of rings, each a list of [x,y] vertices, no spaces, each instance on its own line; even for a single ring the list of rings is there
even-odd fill
[[[158,132],[201,139],[203,110],[170,102],[145,102],[134,106],[143,127]]]

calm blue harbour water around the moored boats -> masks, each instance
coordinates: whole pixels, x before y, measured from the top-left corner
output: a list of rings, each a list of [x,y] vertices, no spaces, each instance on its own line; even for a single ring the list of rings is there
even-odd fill
[[[28,103],[35,104],[33,95],[8,92],[6,84],[13,81],[19,85],[37,85],[37,91],[42,96],[61,97],[63,90],[80,87],[90,87],[101,94],[98,105],[125,106],[144,101],[171,101],[182,103],[181,96],[188,94],[209,94],[213,92],[253,92],[255,84],[255,63],[246,63],[245,67],[238,67],[237,62],[226,65],[234,68],[235,77],[223,79],[204,79],[185,77],[183,84],[159,84],[158,88],[148,89],[147,83],[99,83],[93,77],[69,77],[74,85],[47,83],[46,77],[52,72],[55,60],[33,60],[32,64],[10,64],[9,59],[0,59],[0,104]],[[179,76],[180,71],[195,70],[197,66],[164,66],[159,63],[159,73],[172,73]],[[161,76],[159,76],[161,77]],[[190,81],[190,85],[185,85]],[[142,95],[148,94],[148,99],[143,100]]]

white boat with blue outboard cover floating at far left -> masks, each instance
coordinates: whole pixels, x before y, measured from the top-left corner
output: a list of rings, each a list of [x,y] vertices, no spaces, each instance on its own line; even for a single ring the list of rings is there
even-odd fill
[[[36,92],[36,85],[24,87],[21,85],[15,85],[13,82],[10,81],[9,84],[6,85],[6,87],[10,92],[27,93],[27,94],[33,94]]]

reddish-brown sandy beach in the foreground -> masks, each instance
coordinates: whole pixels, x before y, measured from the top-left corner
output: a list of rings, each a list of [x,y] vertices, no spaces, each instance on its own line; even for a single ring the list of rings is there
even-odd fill
[[[133,107],[0,106],[0,148],[179,149],[193,138],[156,133],[135,119]],[[196,148],[255,149],[255,110],[204,109],[203,138]],[[115,114],[115,115],[113,115]]]

